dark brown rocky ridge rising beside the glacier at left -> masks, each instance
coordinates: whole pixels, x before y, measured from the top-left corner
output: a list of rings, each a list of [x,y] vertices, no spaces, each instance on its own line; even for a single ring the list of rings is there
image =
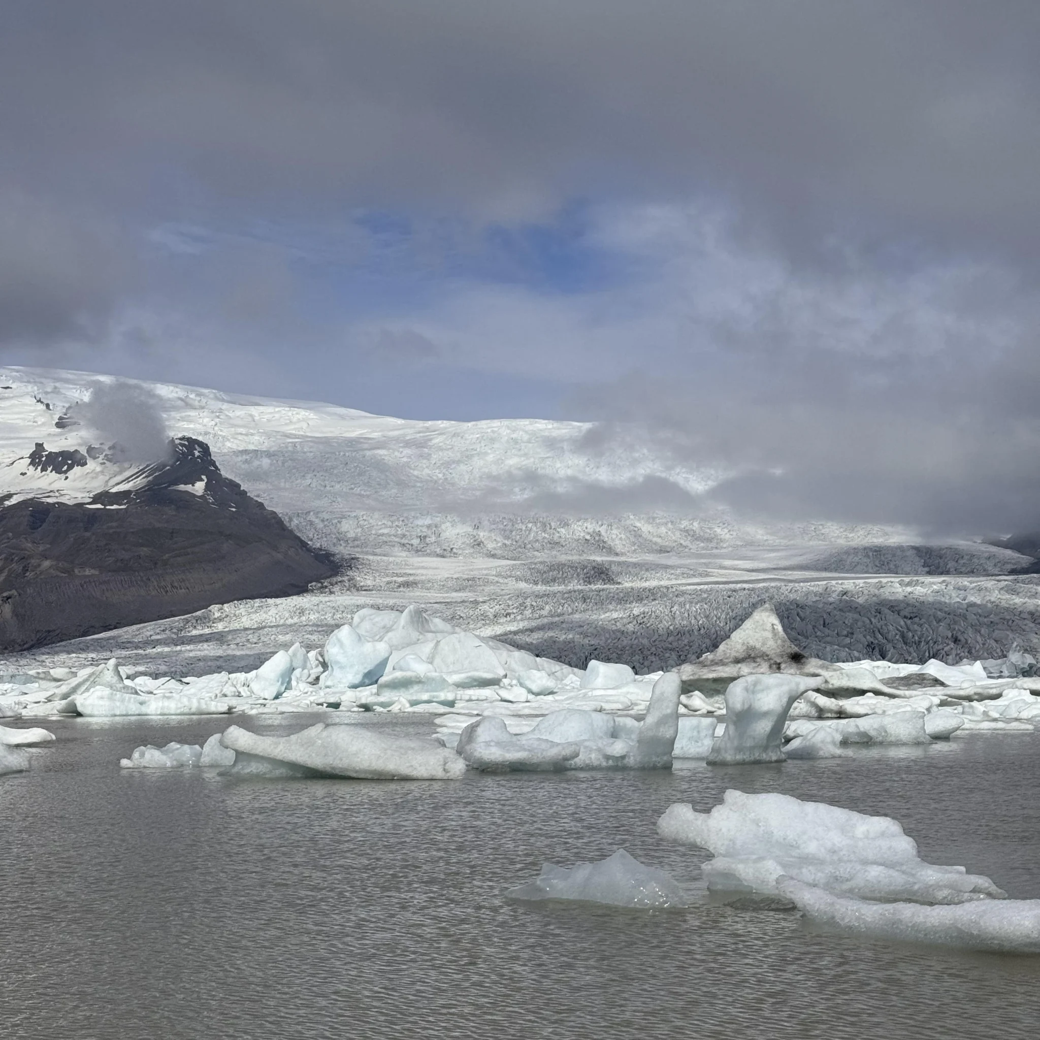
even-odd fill
[[[290,596],[336,573],[205,443],[172,443],[172,461],[144,467],[135,490],[0,506],[0,650]]]

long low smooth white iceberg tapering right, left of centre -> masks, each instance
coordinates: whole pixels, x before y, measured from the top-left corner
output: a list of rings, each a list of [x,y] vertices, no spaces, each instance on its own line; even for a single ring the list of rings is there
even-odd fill
[[[236,772],[244,770],[242,756],[249,756],[245,762],[252,762],[253,771],[257,759],[265,759],[274,771],[287,765],[311,775],[365,780],[457,780],[466,772],[462,758],[433,740],[392,736],[371,726],[317,723],[290,736],[262,736],[231,726],[220,744],[235,752]]]

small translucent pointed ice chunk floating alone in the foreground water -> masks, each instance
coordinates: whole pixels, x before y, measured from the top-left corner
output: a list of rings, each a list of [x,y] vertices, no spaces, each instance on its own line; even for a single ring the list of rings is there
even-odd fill
[[[670,875],[645,866],[624,849],[599,862],[578,863],[570,869],[543,863],[535,881],[511,888],[505,894],[530,902],[577,900],[638,910],[685,907],[690,903]]]

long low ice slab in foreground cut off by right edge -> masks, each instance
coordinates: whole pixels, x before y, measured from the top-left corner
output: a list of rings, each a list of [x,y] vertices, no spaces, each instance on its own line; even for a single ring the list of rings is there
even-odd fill
[[[778,892],[810,920],[872,938],[1006,954],[1040,954],[1040,900],[983,900],[959,906],[870,903],[834,895],[795,878]]]

